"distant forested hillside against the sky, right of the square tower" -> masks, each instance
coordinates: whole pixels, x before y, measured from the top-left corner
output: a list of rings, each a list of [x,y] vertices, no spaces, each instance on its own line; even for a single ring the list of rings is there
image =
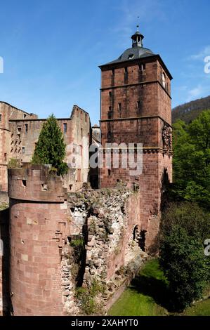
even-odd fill
[[[210,95],[206,98],[199,98],[197,100],[178,105],[172,110],[172,123],[177,119],[182,119],[186,124],[189,124],[192,120],[203,110],[210,109]]]

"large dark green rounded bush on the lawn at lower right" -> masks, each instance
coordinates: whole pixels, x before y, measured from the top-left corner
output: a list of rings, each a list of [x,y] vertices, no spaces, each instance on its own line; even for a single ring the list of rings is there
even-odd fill
[[[197,204],[169,204],[164,211],[160,265],[169,281],[176,310],[183,310],[192,301],[202,298],[210,274],[210,260],[204,255],[204,240],[209,235],[209,213]]]

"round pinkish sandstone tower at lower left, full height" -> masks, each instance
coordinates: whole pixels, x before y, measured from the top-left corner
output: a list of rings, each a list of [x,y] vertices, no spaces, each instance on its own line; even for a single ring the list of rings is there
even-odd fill
[[[8,170],[13,315],[64,315],[61,250],[66,190],[48,166]]]

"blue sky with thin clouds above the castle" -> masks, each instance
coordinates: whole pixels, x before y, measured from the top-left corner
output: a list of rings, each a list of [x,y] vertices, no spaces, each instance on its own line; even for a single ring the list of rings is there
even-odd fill
[[[1,0],[0,10],[0,100],[40,118],[77,104],[98,121],[98,65],[131,46],[137,16],[173,76],[173,107],[210,94],[209,0]]]

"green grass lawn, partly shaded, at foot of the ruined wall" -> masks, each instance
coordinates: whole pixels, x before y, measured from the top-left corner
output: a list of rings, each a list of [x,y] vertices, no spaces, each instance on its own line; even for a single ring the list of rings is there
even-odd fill
[[[169,297],[166,279],[159,269],[157,259],[148,261],[131,286],[122,293],[108,315],[113,316],[162,316],[168,312]],[[172,314],[171,314],[172,315]],[[174,314],[173,314],[174,315]],[[210,316],[210,299],[196,303],[184,313],[176,315]]]

